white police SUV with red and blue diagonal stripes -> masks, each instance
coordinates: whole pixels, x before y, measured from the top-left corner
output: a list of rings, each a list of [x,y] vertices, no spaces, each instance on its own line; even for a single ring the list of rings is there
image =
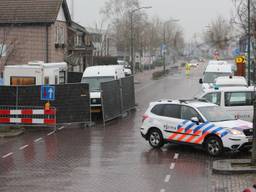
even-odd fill
[[[143,115],[142,136],[153,148],[167,142],[193,144],[218,156],[225,149],[252,147],[252,123],[235,119],[219,106],[201,100],[152,102]]]

